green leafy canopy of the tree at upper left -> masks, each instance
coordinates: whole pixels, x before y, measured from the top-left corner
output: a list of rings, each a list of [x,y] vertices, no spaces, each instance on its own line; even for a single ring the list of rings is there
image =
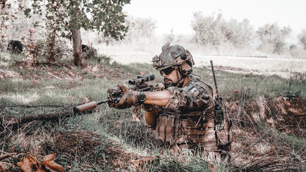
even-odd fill
[[[104,36],[123,39],[127,27],[124,25],[125,15],[122,6],[130,0],[33,0],[32,7],[35,13],[42,14],[45,4],[47,8],[46,19],[57,25],[61,35],[70,29],[93,29],[102,32]]]

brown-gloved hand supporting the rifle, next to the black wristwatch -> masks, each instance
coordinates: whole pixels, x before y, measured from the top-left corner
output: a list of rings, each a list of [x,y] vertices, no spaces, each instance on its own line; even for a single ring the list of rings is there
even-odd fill
[[[135,105],[138,102],[138,91],[133,91],[125,86],[118,85],[118,87],[124,92],[121,99],[118,103],[108,104],[109,107],[114,107],[117,109],[125,109],[130,108],[131,106]]]

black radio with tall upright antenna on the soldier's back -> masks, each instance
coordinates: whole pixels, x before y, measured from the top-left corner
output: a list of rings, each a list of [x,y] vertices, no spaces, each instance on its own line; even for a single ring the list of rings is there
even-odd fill
[[[211,66],[212,66],[212,71],[213,71],[213,76],[214,76],[214,87],[215,87],[216,96],[217,96],[217,100],[216,100],[215,105],[214,105],[214,113],[215,113],[214,120],[215,120],[215,124],[217,126],[217,129],[222,130],[224,128],[223,112],[225,112],[225,109],[221,105],[221,103],[223,102],[222,98],[219,97],[218,86],[217,86],[217,82],[215,80],[215,75],[214,75],[213,60],[211,60]]]

